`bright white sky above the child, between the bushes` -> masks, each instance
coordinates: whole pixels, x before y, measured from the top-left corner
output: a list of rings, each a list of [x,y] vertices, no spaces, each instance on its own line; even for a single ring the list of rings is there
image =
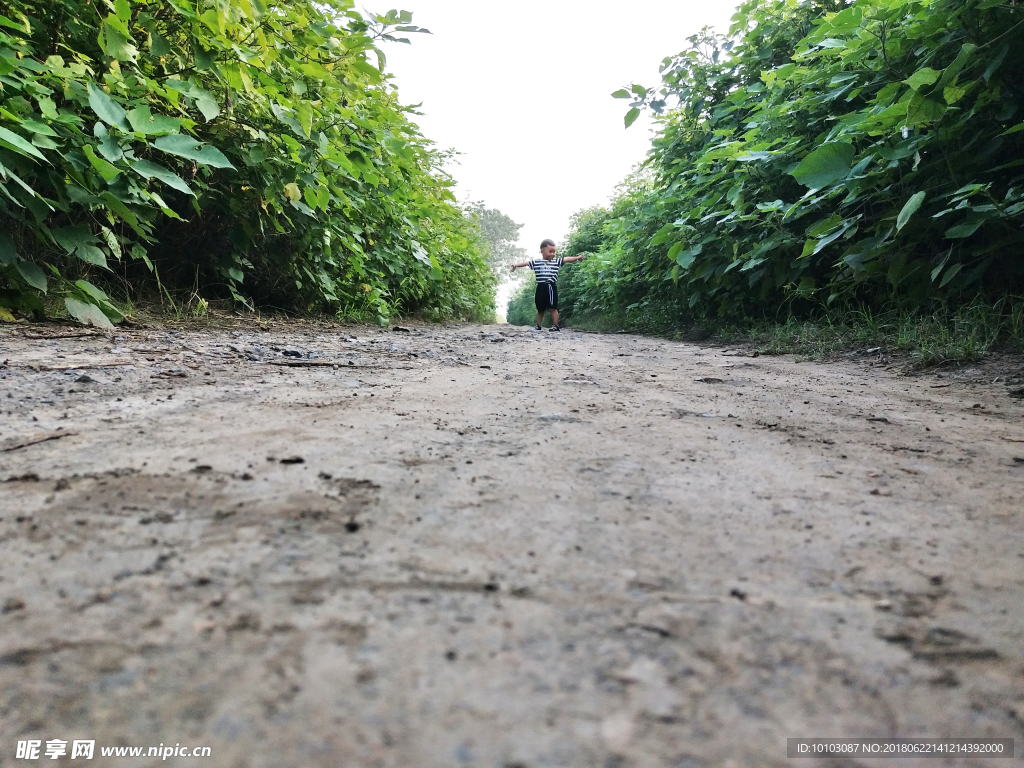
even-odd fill
[[[530,258],[543,239],[565,237],[572,213],[607,203],[647,152],[649,119],[625,129],[629,102],[611,92],[659,83],[662,59],[703,26],[728,31],[737,4],[391,2],[432,33],[384,45],[401,100],[422,102],[414,120],[424,135],[461,153],[450,167],[460,201],[481,200],[524,224],[519,245]]]

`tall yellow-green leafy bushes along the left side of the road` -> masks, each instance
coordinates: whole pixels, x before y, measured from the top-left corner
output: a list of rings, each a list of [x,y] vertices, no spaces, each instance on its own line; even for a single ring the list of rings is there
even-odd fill
[[[417,32],[350,0],[0,3],[0,317],[492,319],[485,239],[386,74]]]

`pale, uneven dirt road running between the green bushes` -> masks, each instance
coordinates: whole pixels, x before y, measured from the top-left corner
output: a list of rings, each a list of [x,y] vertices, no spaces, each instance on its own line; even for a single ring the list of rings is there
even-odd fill
[[[40,333],[0,330],[0,766],[30,738],[218,768],[1024,748],[1024,400],[985,371],[507,326]],[[99,756],[158,743],[213,757]]]

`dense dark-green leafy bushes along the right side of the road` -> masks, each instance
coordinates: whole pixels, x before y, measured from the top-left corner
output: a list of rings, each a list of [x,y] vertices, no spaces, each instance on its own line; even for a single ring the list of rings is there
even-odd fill
[[[613,94],[658,130],[573,221],[562,254],[597,255],[560,281],[569,324],[925,361],[1024,347],[1019,6],[749,0],[662,73]]]

